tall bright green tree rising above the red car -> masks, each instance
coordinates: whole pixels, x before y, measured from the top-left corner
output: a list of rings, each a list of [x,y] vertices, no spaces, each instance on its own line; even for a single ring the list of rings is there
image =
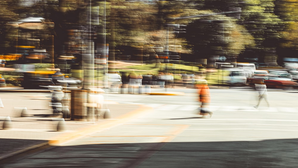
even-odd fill
[[[260,57],[262,60],[278,47],[283,21],[274,13],[275,5],[272,0],[245,1],[240,7],[242,24],[254,36],[256,43],[249,50],[255,51],[256,55],[253,57]]]

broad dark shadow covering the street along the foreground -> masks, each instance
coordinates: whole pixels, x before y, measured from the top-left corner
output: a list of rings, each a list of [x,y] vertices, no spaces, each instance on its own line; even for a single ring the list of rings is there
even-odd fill
[[[199,138],[199,137],[198,137]],[[34,140],[0,139],[22,146]],[[40,143],[41,141],[34,141]],[[1,167],[297,167],[298,139],[59,146]],[[3,146],[3,145],[2,145]],[[10,149],[1,149],[2,154]]]

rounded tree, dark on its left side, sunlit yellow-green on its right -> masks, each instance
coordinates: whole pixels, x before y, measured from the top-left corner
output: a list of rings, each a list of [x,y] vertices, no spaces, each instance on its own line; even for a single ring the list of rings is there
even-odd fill
[[[218,55],[234,58],[254,45],[245,27],[225,15],[197,19],[187,26],[186,32],[186,39],[197,58]]]

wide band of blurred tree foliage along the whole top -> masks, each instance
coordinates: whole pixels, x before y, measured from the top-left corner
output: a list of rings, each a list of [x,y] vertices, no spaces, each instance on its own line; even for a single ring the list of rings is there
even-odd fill
[[[165,48],[167,37],[169,45],[182,45],[182,52],[197,58],[247,56],[248,50],[261,57],[267,51],[298,49],[297,0],[48,0],[30,6],[7,0],[0,7],[1,38],[7,22],[41,16],[55,23],[56,52],[67,41],[66,25],[88,24],[90,7],[99,9],[97,34],[106,37],[114,54],[123,46],[150,54],[154,47]],[[175,35],[167,24],[187,25],[186,33]],[[1,42],[2,48],[10,44]]]

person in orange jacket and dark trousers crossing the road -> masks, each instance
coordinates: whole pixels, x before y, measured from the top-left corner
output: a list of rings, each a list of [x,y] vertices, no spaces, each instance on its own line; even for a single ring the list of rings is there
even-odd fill
[[[210,118],[213,114],[209,110],[209,105],[210,105],[210,89],[208,87],[207,81],[204,80],[200,84],[196,85],[197,90],[198,90],[198,101],[201,102],[201,111],[200,115],[203,115],[203,117],[210,115]]]

